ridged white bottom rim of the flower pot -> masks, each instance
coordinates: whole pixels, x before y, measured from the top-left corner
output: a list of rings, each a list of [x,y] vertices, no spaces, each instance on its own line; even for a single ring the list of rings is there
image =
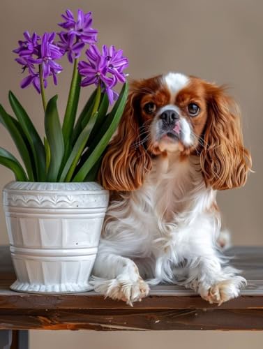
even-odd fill
[[[32,284],[15,281],[10,285],[10,289],[22,293],[82,293],[93,290],[93,286],[89,283],[60,283],[57,285]]]

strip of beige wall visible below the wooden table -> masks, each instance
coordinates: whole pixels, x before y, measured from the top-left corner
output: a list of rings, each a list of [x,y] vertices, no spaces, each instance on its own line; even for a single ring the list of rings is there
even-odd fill
[[[262,349],[261,332],[32,331],[30,349]]]

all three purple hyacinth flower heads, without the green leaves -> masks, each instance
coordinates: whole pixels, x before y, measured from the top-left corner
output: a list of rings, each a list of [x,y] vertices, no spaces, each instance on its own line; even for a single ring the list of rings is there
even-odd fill
[[[21,87],[33,84],[33,87],[40,93],[40,81],[43,80],[43,87],[47,87],[47,77],[52,76],[54,84],[57,84],[57,74],[62,67],[57,63],[57,59],[67,55],[68,61],[73,63],[78,59],[85,45],[89,45],[86,51],[87,61],[80,61],[78,71],[84,78],[82,86],[90,84],[100,85],[107,93],[112,104],[117,99],[118,94],[113,88],[117,82],[124,83],[126,75],[123,70],[128,67],[128,59],[123,57],[122,50],[116,50],[114,46],[103,45],[102,53],[96,46],[98,31],[91,27],[91,12],[84,13],[77,11],[75,20],[73,13],[66,10],[66,14],[61,15],[63,22],[59,26],[63,28],[57,35],[59,40],[55,40],[55,33],[45,33],[42,37],[29,32],[24,33],[24,39],[20,40],[19,47],[14,50],[18,54],[15,59],[22,65],[22,70],[28,70],[29,75],[21,82]]]

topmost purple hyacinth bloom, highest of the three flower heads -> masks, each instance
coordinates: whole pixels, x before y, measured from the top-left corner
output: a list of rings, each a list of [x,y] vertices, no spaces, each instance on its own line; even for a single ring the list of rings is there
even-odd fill
[[[61,15],[61,17],[65,22],[59,23],[59,26],[68,30],[69,34],[75,34],[77,41],[89,44],[97,42],[98,31],[91,28],[91,12],[84,13],[82,10],[77,10],[77,20],[75,20],[73,13],[66,10],[66,15]]]

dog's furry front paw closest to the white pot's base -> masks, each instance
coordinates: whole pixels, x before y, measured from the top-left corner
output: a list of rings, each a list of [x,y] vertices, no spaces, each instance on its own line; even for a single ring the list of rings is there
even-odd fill
[[[93,280],[94,290],[102,293],[105,297],[122,300],[133,306],[133,302],[140,302],[142,298],[149,295],[149,285],[139,276],[134,279],[127,279],[122,274],[117,279],[100,281]]]

